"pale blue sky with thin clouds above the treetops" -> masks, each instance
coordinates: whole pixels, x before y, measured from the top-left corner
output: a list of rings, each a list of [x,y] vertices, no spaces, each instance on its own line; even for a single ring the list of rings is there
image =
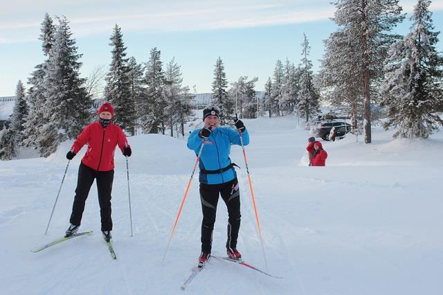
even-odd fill
[[[404,12],[410,12],[415,0],[399,3]],[[443,0],[433,1],[431,10],[435,29],[442,30]],[[37,38],[45,12],[71,21],[83,54],[82,76],[109,65],[109,37],[118,24],[128,56],[147,62],[156,46],[164,63],[175,57],[183,84],[191,89],[195,84],[198,93],[210,92],[219,56],[229,82],[241,75],[256,76],[256,89],[263,89],[276,60],[299,63],[303,33],[317,70],[322,40],[335,30],[329,20],[334,14],[329,0],[10,1],[0,11],[0,96],[14,95],[17,81],[27,82],[34,66],[44,60]],[[405,34],[408,27],[405,22],[397,31]],[[442,41],[437,49],[443,51]]]

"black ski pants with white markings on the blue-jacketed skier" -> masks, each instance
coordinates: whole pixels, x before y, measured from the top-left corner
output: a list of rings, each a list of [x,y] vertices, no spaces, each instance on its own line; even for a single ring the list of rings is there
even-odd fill
[[[240,192],[237,178],[224,184],[200,184],[201,211],[201,251],[210,253],[213,243],[213,230],[217,203],[221,199],[228,208],[228,240],[226,247],[236,248],[238,231],[240,229]]]

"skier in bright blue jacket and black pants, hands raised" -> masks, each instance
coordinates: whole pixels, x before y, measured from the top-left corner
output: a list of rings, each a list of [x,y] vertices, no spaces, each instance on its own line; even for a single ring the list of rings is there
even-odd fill
[[[204,127],[192,132],[188,138],[188,148],[199,153],[200,200],[203,220],[201,222],[201,255],[199,262],[210,257],[213,229],[219,195],[228,208],[228,240],[226,251],[233,259],[242,255],[237,251],[237,238],[240,228],[240,195],[234,163],[229,159],[230,145],[241,145],[239,132],[242,132],[244,145],[249,143],[248,131],[241,120],[235,120],[237,131],[230,127],[219,127],[220,109],[208,106],[203,110]]]

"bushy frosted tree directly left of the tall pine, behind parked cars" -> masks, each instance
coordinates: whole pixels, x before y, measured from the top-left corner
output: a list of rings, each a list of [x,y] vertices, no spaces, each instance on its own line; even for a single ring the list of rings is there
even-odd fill
[[[321,62],[318,80],[323,90],[325,100],[338,107],[350,106],[352,130],[359,129],[359,112],[363,109],[363,96],[361,87],[361,67],[355,59],[355,48],[350,38],[341,31],[329,35],[324,40],[325,55]]]

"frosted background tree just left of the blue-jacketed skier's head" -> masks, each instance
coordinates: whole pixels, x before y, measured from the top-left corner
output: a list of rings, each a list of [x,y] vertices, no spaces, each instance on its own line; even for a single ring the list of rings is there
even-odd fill
[[[175,62],[173,57],[165,69],[165,96],[168,106],[165,113],[168,116],[168,127],[170,135],[174,136],[174,126],[180,126],[180,133],[184,136],[184,124],[192,116],[192,107],[190,102],[192,96],[189,93],[189,87],[182,87],[183,78],[181,78],[181,66]],[[178,136],[177,130],[177,136]]]

